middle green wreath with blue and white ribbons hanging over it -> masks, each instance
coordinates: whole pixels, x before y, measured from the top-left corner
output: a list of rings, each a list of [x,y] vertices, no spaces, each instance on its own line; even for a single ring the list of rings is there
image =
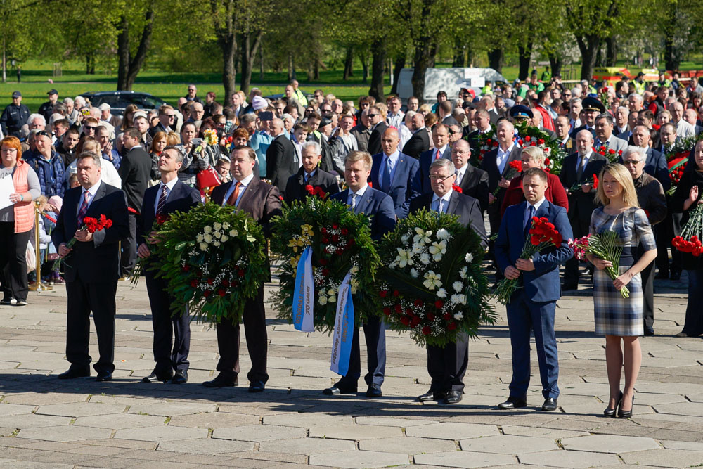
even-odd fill
[[[367,312],[375,310],[373,298],[366,292],[371,290],[380,264],[368,216],[355,214],[349,205],[336,200],[311,195],[305,202],[295,200],[283,207],[283,214],[273,219],[271,250],[283,257],[283,264],[278,271],[280,288],[273,294],[271,304],[278,311],[278,318],[289,323],[298,261],[307,247],[312,249],[315,328],[333,329],[337,292],[350,270],[355,323],[359,325]]]

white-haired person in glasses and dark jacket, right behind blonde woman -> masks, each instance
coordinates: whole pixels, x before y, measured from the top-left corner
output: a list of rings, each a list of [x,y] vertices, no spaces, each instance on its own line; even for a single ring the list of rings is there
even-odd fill
[[[662,184],[645,172],[645,155],[641,148],[628,147],[623,156],[623,164],[632,175],[637,192],[637,201],[647,213],[650,225],[654,226],[666,217],[666,196]],[[638,255],[643,255],[644,248],[639,245]],[[645,309],[645,335],[654,335],[654,262],[650,262],[643,271],[642,290]]]

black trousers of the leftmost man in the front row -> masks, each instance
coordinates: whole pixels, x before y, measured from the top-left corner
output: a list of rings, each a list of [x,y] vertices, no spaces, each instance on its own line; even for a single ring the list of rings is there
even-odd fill
[[[112,373],[115,365],[115,293],[117,281],[86,283],[81,278],[66,282],[68,314],[66,323],[66,359],[71,368],[87,368],[89,354],[90,314],[98,334],[100,358],[93,365],[96,371]]]

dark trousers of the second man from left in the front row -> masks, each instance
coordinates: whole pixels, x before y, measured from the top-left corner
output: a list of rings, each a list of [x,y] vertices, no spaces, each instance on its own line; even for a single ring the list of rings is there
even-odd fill
[[[169,374],[173,370],[188,371],[188,352],[191,348],[188,307],[181,311],[180,316],[172,316],[172,297],[167,293],[166,281],[163,278],[155,278],[150,272],[146,272],[144,276],[151,306],[151,324],[154,328],[154,371],[158,375]]]

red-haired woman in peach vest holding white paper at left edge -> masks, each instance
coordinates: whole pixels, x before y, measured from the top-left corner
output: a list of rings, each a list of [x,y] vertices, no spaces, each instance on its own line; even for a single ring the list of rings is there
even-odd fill
[[[27,261],[25,252],[34,226],[32,200],[41,195],[39,177],[22,160],[20,139],[8,136],[0,141],[0,178],[11,178],[14,191],[0,207],[0,283],[3,299],[0,304],[27,305]],[[6,180],[4,180],[7,183]]]

